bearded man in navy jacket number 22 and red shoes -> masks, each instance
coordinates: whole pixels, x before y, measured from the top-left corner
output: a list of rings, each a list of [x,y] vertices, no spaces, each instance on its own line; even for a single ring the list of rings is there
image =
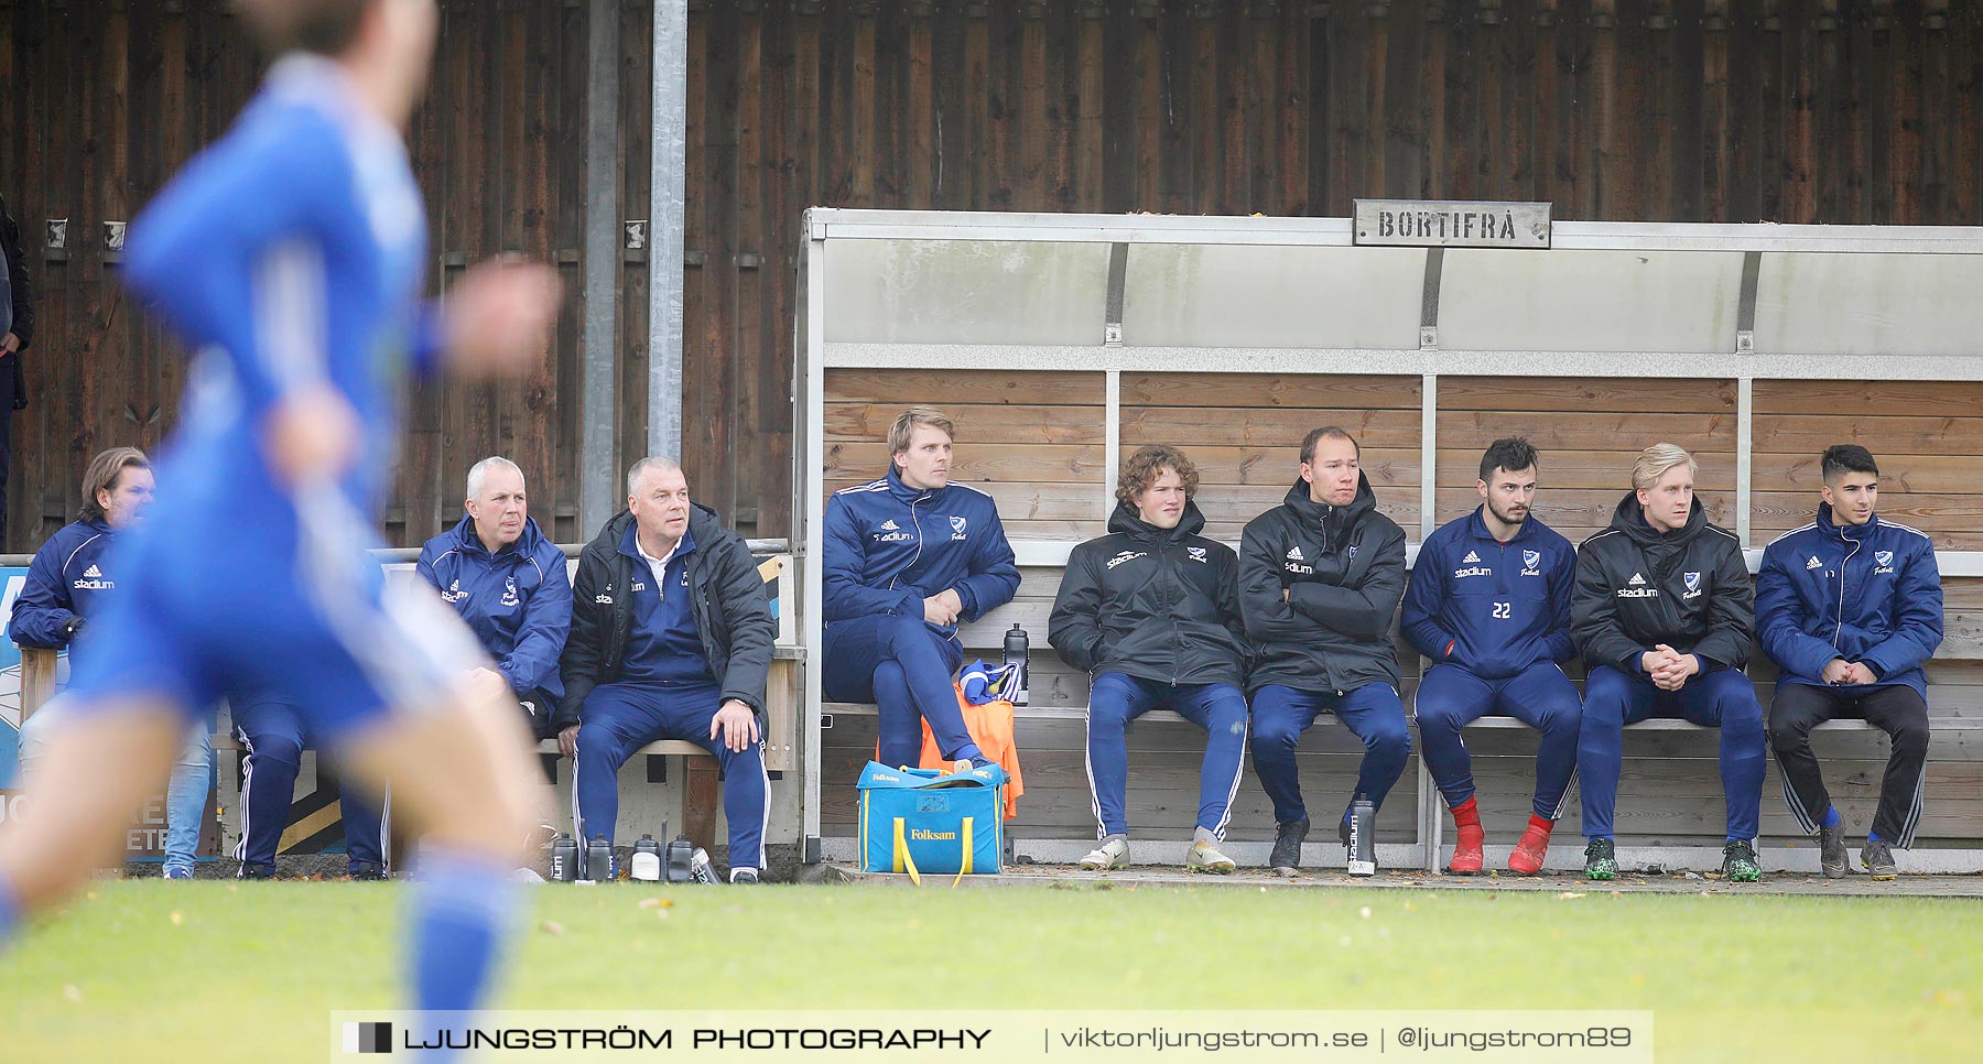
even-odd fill
[[[1543,870],[1549,832],[1576,773],[1580,705],[1576,686],[1557,668],[1576,656],[1576,549],[1531,515],[1535,470],[1527,440],[1495,440],[1481,456],[1481,505],[1426,539],[1404,592],[1404,634],[1432,662],[1418,686],[1420,757],[1454,814],[1454,860],[1446,870],[1458,876],[1485,864],[1473,767],[1459,735],[1465,725],[1499,711],[1543,733],[1533,812],[1507,856],[1509,872]]]

